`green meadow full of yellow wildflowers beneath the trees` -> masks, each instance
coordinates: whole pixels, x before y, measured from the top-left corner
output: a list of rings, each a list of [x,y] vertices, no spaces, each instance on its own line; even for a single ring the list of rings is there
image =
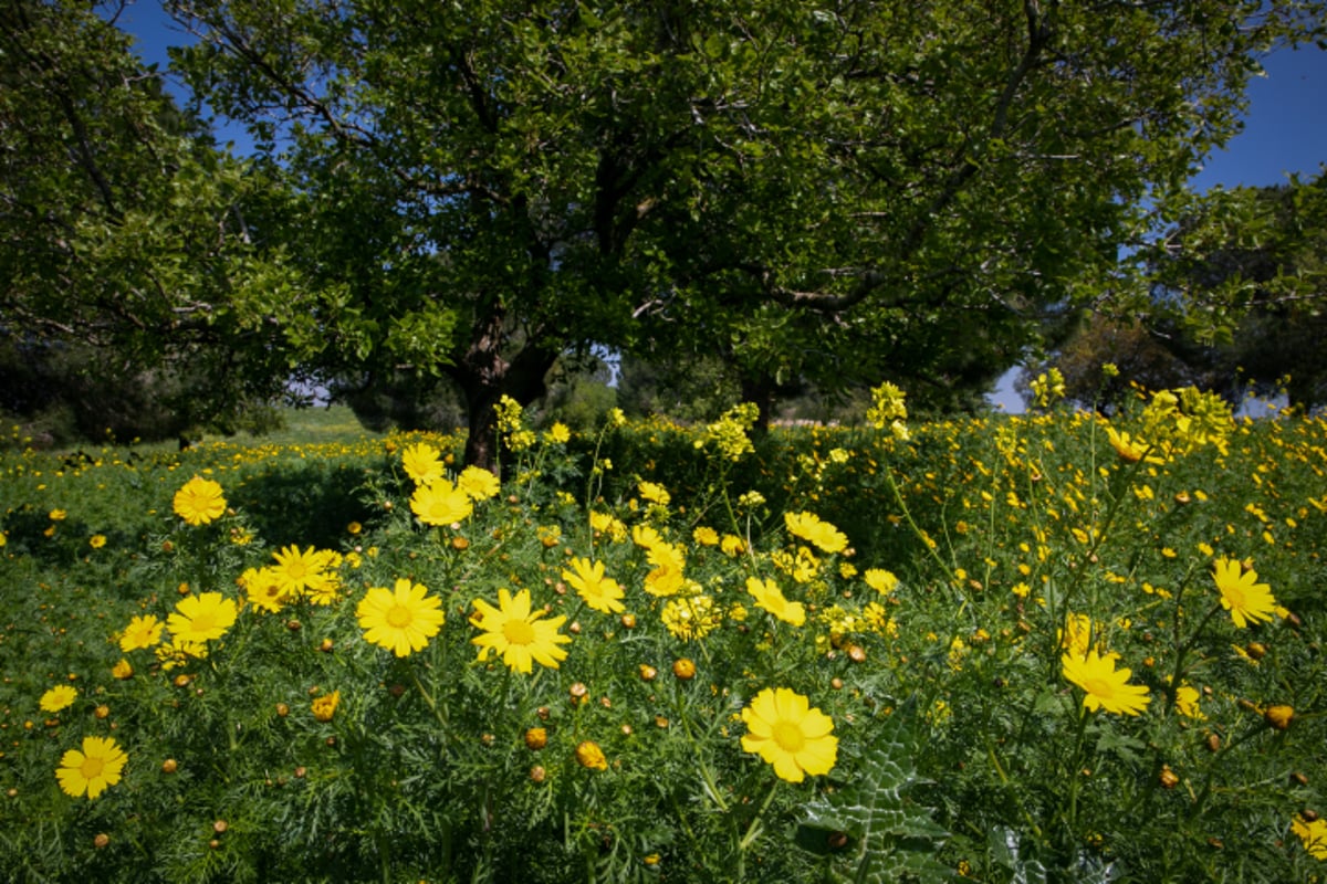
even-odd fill
[[[1327,421],[0,459],[15,881],[1316,881]]]

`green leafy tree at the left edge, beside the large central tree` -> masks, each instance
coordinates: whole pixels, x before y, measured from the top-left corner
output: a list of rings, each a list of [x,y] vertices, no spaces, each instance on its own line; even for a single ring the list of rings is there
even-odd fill
[[[86,3],[0,4],[0,337],[86,354],[100,388],[206,374],[176,384],[179,421],[224,420],[281,390],[271,310],[247,305],[292,280],[243,213],[267,183],[129,46]]]

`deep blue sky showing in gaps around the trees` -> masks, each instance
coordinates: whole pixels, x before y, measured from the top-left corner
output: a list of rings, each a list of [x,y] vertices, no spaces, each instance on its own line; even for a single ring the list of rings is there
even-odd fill
[[[130,3],[119,25],[139,41],[147,62],[165,70],[166,46],[187,42],[178,25],[151,0]],[[1243,131],[1214,154],[1193,178],[1197,190],[1221,184],[1279,184],[1292,172],[1303,178],[1327,164],[1327,52],[1314,46],[1281,50],[1263,60],[1266,76],[1249,83],[1249,111]],[[243,150],[249,142],[242,130],[218,131]],[[1013,391],[1013,372],[1001,379],[991,398],[1007,411],[1022,411]]]

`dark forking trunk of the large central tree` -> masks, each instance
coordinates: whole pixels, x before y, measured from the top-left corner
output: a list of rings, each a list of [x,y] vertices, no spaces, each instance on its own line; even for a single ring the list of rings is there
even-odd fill
[[[528,406],[547,392],[544,380],[557,353],[525,345],[510,360],[503,358],[504,315],[494,311],[475,323],[470,347],[446,368],[466,398],[466,465],[498,472],[498,415],[494,407],[506,395]]]

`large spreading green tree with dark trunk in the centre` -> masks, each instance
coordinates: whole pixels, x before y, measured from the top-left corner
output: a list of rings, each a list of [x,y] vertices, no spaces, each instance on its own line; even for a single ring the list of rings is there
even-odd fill
[[[318,364],[447,374],[467,459],[563,353],[747,395],[1016,359],[1322,4],[173,0],[304,196]]]

